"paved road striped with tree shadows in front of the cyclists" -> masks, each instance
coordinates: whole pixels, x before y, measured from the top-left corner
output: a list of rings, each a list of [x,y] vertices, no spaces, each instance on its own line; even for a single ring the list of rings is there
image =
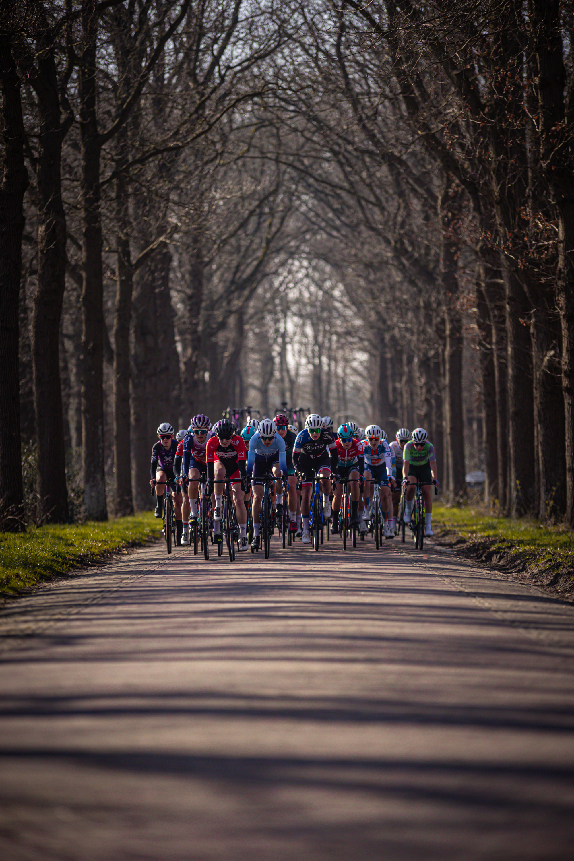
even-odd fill
[[[0,614],[0,858],[574,857],[574,608],[397,541],[162,546]]]

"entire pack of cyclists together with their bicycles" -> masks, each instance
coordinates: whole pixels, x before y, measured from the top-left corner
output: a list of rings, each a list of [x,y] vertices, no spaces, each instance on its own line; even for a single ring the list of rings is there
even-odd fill
[[[269,536],[296,539],[318,550],[333,536],[353,546],[373,536],[375,548],[412,533],[415,546],[433,535],[432,486],[438,489],[435,449],[427,431],[400,428],[389,443],[379,424],[350,420],[335,430],[330,416],[307,415],[297,427],[286,412],[250,418],[242,429],[230,418],[211,424],[195,415],[187,429],[157,428],[151,449],[156,517],[172,545],[208,545],[230,559],[261,548]],[[303,422],[299,422],[299,425]]]

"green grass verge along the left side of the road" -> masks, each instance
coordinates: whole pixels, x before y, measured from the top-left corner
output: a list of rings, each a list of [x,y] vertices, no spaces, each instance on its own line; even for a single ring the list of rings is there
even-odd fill
[[[157,532],[152,511],[107,523],[54,523],[31,526],[17,535],[0,532],[0,593],[16,595],[54,574],[145,544],[157,537]]]

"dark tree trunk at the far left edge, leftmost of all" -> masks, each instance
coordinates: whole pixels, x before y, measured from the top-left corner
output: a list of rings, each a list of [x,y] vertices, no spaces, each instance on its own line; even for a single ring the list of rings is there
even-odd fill
[[[0,529],[23,530],[18,311],[23,200],[28,188],[20,80],[10,37],[0,34],[3,177],[0,186]],[[58,341],[56,341],[58,343]]]

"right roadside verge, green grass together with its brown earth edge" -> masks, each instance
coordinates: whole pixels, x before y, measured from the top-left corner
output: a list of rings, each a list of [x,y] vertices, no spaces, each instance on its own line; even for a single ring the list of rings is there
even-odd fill
[[[574,598],[574,532],[528,518],[511,520],[478,507],[433,505],[435,541],[517,579]]]

